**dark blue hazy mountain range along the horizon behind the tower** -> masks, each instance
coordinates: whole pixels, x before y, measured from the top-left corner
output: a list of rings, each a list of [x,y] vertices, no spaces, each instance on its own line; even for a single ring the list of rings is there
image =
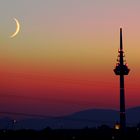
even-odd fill
[[[136,126],[140,122],[140,107],[126,110],[128,126]],[[53,129],[86,128],[108,125],[113,127],[119,121],[119,112],[108,109],[90,109],[62,117],[30,118],[13,122],[10,118],[0,119],[0,129],[36,129],[47,127]]]

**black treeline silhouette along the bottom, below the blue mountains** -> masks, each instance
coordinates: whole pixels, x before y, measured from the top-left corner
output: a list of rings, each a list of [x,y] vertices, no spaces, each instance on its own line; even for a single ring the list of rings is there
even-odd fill
[[[1,140],[121,140],[120,130],[102,125],[98,128],[36,130],[0,130]],[[140,125],[127,127],[124,140],[140,140]]]

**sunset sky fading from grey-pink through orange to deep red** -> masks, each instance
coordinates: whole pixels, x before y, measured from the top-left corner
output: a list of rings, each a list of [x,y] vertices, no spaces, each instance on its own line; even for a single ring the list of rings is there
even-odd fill
[[[0,111],[119,109],[113,73],[123,28],[126,107],[140,106],[140,1],[0,1]],[[21,24],[15,38],[17,18]]]

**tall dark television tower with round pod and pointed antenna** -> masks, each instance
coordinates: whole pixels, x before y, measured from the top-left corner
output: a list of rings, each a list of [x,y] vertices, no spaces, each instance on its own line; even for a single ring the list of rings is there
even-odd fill
[[[124,91],[124,75],[128,75],[130,69],[128,69],[126,61],[124,61],[123,40],[122,40],[122,28],[120,28],[120,49],[117,58],[117,64],[114,69],[116,75],[120,76],[120,129],[121,132],[125,132],[126,129],[126,116],[125,116],[125,91]]]

